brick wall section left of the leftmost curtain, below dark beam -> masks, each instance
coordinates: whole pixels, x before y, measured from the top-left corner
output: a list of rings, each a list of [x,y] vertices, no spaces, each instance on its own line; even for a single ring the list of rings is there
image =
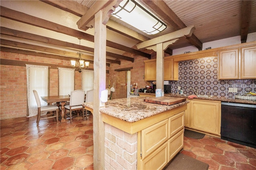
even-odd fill
[[[0,119],[26,116],[26,67],[1,65],[0,75]]]

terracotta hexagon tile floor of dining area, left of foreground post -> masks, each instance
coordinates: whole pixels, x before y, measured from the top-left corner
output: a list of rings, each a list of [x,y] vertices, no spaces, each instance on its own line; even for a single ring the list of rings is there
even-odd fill
[[[92,115],[72,124],[36,117],[0,121],[1,170],[93,170]]]

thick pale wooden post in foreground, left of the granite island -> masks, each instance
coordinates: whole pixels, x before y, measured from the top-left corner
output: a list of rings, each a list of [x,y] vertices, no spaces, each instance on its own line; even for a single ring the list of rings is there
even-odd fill
[[[95,14],[94,27],[94,90],[93,90],[93,145],[94,169],[105,169],[105,127],[100,109],[100,92],[106,89],[106,25],[102,10]]]

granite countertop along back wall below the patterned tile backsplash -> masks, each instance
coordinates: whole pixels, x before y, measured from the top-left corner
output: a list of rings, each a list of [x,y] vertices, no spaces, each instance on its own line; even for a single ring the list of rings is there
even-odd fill
[[[145,93],[139,93],[139,94],[145,94]],[[154,94],[154,93],[146,93],[146,94],[147,95],[152,95],[152,97],[156,96],[156,94]],[[178,97],[178,98],[188,98],[188,96],[181,96],[181,95],[172,94],[172,93],[164,94],[164,96]],[[216,100],[216,101],[221,101],[221,102],[230,102],[230,103],[241,103],[241,104],[253,104],[253,105],[256,105],[256,100],[242,100],[242,99],[225,98],[225,97],[217,97],[217,96],[212,96],[211,98],[199,98],[199,97],[196,97],[195,99]]]

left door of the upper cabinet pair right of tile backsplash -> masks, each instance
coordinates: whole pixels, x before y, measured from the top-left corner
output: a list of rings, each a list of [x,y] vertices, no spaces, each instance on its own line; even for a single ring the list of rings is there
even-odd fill
[[[218,78],[238,79],[238,49],[219,51]]]

